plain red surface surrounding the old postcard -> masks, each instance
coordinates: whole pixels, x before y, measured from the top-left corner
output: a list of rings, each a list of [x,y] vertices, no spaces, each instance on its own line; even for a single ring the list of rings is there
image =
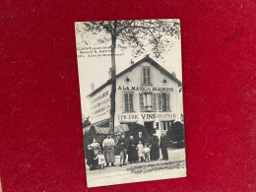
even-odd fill
[[[254,0],[2,0],[0,7],[3,191],[256,190]],[[164,18],[181,20],[188,176],[88,189],[74,23]]]

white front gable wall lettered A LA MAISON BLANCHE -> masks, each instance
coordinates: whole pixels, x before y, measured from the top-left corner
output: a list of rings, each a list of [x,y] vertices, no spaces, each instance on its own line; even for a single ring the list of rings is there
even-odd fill
[[[141,68],[143,66],[151,67],[153,86],[141,85]],[[131,82],[125,82],[126,78],[129,78]],[[162,83],[163,78],[167,80],[165,85]],[[161,93],[160,91],[156,91],[156,89],[159,88],[169,90],[167,93],[170,94],[170,112],[161,112],[158,110],[156,112],[141,112],[139,93],[144,93],[145,90],[154,94]],[[134,112],[124,112],[124,93],[134,93]],[[119,77],[116,81],[116,103],[118,104],[116,105],[115,125],[129,122],[137,122],[144,125],[144,122],[154,121],[154,127],[156,127],[156,123],[161,120],[180,120],[182,108],[180,108],[180,104],[177,103],[180,101],[178,96],[181,96],[179,94],[178,85],[166,75],[162,74],[155,66],[144,62]],[[160,135],[160,131],[158,134]]]

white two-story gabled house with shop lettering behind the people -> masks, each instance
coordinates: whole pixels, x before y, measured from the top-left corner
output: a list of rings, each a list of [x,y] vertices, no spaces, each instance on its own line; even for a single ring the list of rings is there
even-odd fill
[[[181,82],[149,56],[116,76],[115,126],[138,123],[149,133],[166,130],[183,114]],[[111,80],[88,97],[91,102],[90,121],[105,127],[110,117]],[[109,123],[108,123],[109,124]]]

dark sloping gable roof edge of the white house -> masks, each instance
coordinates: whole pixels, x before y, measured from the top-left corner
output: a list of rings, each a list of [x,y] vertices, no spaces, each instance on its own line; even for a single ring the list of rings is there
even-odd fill
[[[143,59],[141,59],[140,61],[138,61],[137,63],[131,65],[130,67],[128,67],[127,69],[123,70],[122,72],[120,72],[117,76],[116,79],[119,78],[120,76],[122,76],[123,74],[133,70],[135,67],[137,67],[138,65],[140,65],[143,62],[149,62],[151,63],[153,66],[155,66],[157,69],[160,70],[160,72],[162,72],[163,74],[165,74],[167,77],[169,77],[170,79],[172,79],[174,82],[176,82],[178,84],[178,86],[180,87],[182,85],[182,83],[172,74],[170,74],[167,70],[165,70],[163,67],[160,66],[159,63],[157,63],[155,60],[153,60],[149,55],[147,55],[146,57],[144,57]],[[99,91],[101,91],[103,88],[105,88],[106,86],[111,85],[111,79],[107,80],[103,85],[101,85],[100,87],[98,87],[94,92],[92,92],[90,95],[88,96],[95,96]]]

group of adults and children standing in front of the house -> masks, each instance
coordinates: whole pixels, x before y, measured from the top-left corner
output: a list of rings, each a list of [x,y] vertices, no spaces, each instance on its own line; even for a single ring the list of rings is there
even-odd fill
[[[160,150],[162,155],[161,160],[168,160],[168,142],[166,131],[163,131],[160,140],[156,135],[156,131],[153,132],[152,137],[144,136],[140,131],[137,137],[131,135],[129,139],[125,137],[125,133],[122,133],[117,142],[115,142],[109,134],[102,142],[103,153],[100,151],[100,146],[96,142],[96,139],[88,146],[88,152],[86,154],[87,164],[90,166],[91,170],[107,167],[110,163],[111,166],[115,166],[115,146],[119,148],[120,166],[127,164],[127,155],[128,161],[131,163],[159,160]]]

